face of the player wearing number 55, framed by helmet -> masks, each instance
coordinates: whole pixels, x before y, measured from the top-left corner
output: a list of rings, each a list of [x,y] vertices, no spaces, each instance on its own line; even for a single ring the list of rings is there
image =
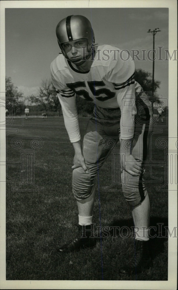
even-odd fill
[[[88,57],[88,40],[86,38],[64,42],[62,47],[66,52],[67,58],[74,64],[82,64]]]

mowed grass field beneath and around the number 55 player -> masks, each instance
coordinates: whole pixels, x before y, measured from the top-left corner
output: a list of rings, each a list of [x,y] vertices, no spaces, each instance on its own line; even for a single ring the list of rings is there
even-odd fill
[[[80,118],[82,136],[88,118]],[[20,183],[20,166],[7,166],[6,186],[6,279],[7,280],[167,280],[168,238],[151,239],[153,266],[140,274],[121,275],[119,268],[129,262],[134,253],[134,239],[117,231],[117,237],[98,239],[94,249],[83,249],[78,253],[63,254],[57,247],[76,236],[78,211],[72,193],[73,146],[69,142],[62,117],[48,119],[24,119],[23,127],[15,118],[17,133],[7,131],[7,160],[19,161],[20,149],[11,146],[14,137],[40,137],[44,144],[34,153],[34,183],[42,191],[12,191]],[[161,124],[159,124],[161,125]],[[10,129],[13,129],[10,128]],[[159,127],[160,128],[160,127]],[[158,129],[158,125],[154,130]],[[163,186],[165,168],[164,149],[157,148],[155,141],[168,136],[163,133],[152,135],[152,160],[157,161],[145,172],[146,186],[150,197],[150,225],[168,224],[168,193]],[[30,148],[30,139],[26,139]],[[98,191],[94,206],[93,222],[96,226],[133,226],[132,213],[125,201],[121,185],[116,191],[105,191],[112,184],[112,156],[101,168]],[[18,178],[12,182],[11,178]],[[163,182],[155,182],[154,178]],[[28,189],[28,186],[26,186]],[[157,231],[159,228],[157,226]]]

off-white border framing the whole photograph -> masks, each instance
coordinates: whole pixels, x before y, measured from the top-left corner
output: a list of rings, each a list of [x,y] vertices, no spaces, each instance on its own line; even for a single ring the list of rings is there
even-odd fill
[[[115,1],[1,1],[1,92],[5,92],[5,8],[169,8],[169,50],[177,49],[177,1],[175,0],[115,0]],[[177,61],[169,60],[169,137],[177,137]],[[5,111],[1,109],[0,121],[5,118]],[[6,156],[6,135],[5,130],[1,130],[1,162]],[[169,143],[169,149],[172,148]],[[5,180],[5,166],[1,166],[1,180]],[[170,172],[170,164],[169,164]],[[168,242],[168,281],[21,281],[6,280],[6,185],[1,182],[1,289],[177,289],[177,239],[170,238]],[[171,191],[174,187],[174,191]],[[177,185],[169,185],[168,226],[177,226]],[[171,214],[170,214],[171,213]],[[173,214],[174,213],[174,214]]]

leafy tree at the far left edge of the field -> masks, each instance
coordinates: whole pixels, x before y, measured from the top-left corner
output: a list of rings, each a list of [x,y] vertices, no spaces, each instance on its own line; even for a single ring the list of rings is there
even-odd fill
[[[13,84],[11,77],[6,77],[6,109],[13,115],[21,115],[23,93]]]

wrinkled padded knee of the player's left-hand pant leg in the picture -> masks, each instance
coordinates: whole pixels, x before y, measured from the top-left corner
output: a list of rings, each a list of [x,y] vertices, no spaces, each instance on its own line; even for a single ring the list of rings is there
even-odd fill
[[[93,185],[94,177],[90,173],[85,173],[82,167],[73,170],[72,188],[77,200],[88,198],[92,193]]]

